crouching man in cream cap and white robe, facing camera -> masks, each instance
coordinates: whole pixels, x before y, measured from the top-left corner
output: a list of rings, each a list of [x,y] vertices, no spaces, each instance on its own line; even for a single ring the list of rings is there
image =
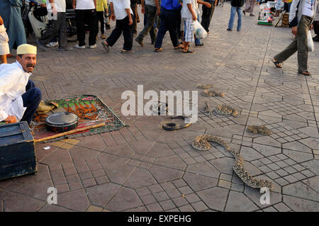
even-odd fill
[[[30,125],[41,101],[41,91],[29,79],[37,61],[37,47],[17,48],[16,62],[0,64],[0,122],[27,121]]]

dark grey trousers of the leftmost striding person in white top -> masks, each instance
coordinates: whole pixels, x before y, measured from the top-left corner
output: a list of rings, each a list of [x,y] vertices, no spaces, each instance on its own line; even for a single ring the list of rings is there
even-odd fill
[[[56,36],[59,37],[60,49],[67,47],[67,17],[65,13],[57,13],[57,20],[49,21],[49,28],[45,31],[43,36],[39,39],[40,43],[47,45]]]

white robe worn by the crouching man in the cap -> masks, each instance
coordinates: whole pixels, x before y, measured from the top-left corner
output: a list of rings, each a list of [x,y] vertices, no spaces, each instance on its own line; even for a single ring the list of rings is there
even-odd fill
[[[16,116],[18,121],[23,117],[26,108],[22,94],[26,93],[30,75],[19,62],[0,64],[0,122],[9,115]]]

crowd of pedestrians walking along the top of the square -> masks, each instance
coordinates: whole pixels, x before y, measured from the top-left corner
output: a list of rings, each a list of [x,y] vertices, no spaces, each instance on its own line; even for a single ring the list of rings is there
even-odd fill
[[[150,33],[151,43],[154,45],[155,52],[161,52],[163,51],[162,41],[168,31],[175,50],[191,53],[194,52],[194,50],[191,50],[190,43],[195,43],[195,46],[204,45],[202,40],[196,38],[196,35],[194,35],[194,21],[201,21],[201,26],[209,33],[209,27],[216,6],[218,6],[218,4],[222,4],[223,6],[223,1],[218,0],[33,1],[38,1],[40,6],[43,7],[42,9],[47,14],[49,21],[45,33],[36,40],[39,49],[43,51],[50,50],[48,47],[54,45],[58,45],[57,50],[59,51],[69,51],[74,48],[84,49],[86,47],[94,49],[98,47],[96,40],[101,38],[104,39],[101,44],[104,49],[109,52],[110,47],[116,45],[118,38],[123,35],[124,44],[121,52],[129,53],[133,51],[134,40],[143,46],[146,35]],[[227,30],[233,31],[233,24],[237,13],[237,31],[240,31],[242,28],[242,14],[246,15],[246,13],[249,13],[250,16],[254,16],[253,11],[256,0],[230,1],[230,20]],[[259,1],[260,0],[257,1],[257,4],[259,4]],[[67,5],[69,5],[71,9],[74,9],[76,15],[78,43],[74,45],[74,47],[68,47],[67,45],[67,28],[65,23]],[[3,50],[0,52],[1,62],[6,62],[4,56],[9,54],[9,51],[13,48],[16,49],[18,45],[26,43],[26,33],[21,19],[21,6],[22,0],[3,0],[0,3],[0,16],[4,18],[3,21],[1,19],[4,26],[0,28],[0,33],[7,33],[7,36],[1,39],[2,43],[0,43],[0,47],[4,46],[3,43],[6,43],[6,38],[9,40],[9,50],[3,47]],[[138,33],[137,29],[137,25],[140,23],[138,6],[140,6],[140,12],[144,14],[144,26],[140,33]],[[313,40],[319,40],[318,0],[276,1],[277,12],[279,12],[283,6],[284,11],[290,8],[293,11],[289,21],[293,27],[293,33],[296,35],[296,40],[291,44],[289,50],[276,55],[273,61],[276,67],[281,67],[281,62],[292,55],[293,51],[298,51],[299,72],[308,74],[305,62],[306,55],[308,55],[305,35],[306,31],[310,30],[314,25],[317,36],[313,38]],[[293,15],[295,16],[293,17]],[[317,15],[317,18],[315,18],[315,15]],[[305,16],[308,16],[308,18],[305,19]],[[110,20],[115,21],[116,25],[111,34],[106,37],[105,30],[111,29]],[[298,23],[299,21],[301,21],[301,23]],[[297,27],[298,32],[296,31]],[[301,30],[303,31],[301,32]],[[86,33],[89,33],[88,46],[86,46],[85,43]],[[99,33],[100,35],[98,35]],[[134,36],[136,37],[134,38]]]

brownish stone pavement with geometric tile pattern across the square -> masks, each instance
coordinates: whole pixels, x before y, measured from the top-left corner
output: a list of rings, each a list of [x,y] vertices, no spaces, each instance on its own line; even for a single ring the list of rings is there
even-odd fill
[[[35,145],[39,174],[0,181],[0,211],[318,211],[319,45],[309,57],[312,77],[296,73],[296,55],[277,69],[270,60],[291,42],[290,29],[257,26],[246,16],[242,31],[230,33],[229,15],[229,3],[218,6],[205,45],[191,46],[196,52],[189,55],[173,50],[168,34],[164,52],[153,52],[148,36],[144,47],[134,43],[132,55],[120,53],[123,38],[109,53],[101,40],[95,50],[39,52],[33,80],[45,100],[94,94],[121,115],[122,92],[138,84],[145,91],[213,84],[225,96],[198,94],[198,122],[183,130],[160,129],[167,116],[122,115],[130,127]],[[205,101],[240,115],[208,117]],[[272,135],[245,131],[263,124]],[[250,174],[274,182],[270,204],[233,173],[233,155],[223,147],[191,147],[203,133],[222,137]],[[57,205],[47,204],[50,186]]]

